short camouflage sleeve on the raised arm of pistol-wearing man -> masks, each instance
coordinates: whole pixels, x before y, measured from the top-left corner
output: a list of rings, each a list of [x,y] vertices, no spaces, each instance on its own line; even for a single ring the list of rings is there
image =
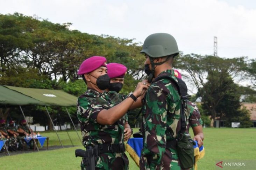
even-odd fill
[[[86,119],[97,123],[96,119],[101,110],[102,105],[96,100],[88,100],[88,98],[78,98],[77,101],[77,117],[79,121],[85,122]]]

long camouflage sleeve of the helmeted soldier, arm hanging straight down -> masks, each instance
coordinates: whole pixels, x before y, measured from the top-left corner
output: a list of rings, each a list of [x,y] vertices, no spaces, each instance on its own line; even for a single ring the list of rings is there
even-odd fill
[[[153,87],[145,99],[143,157],[148,159],[146,167],[153,169],[161,169],[166,148],[166,97],[167,93],[160,87]]]

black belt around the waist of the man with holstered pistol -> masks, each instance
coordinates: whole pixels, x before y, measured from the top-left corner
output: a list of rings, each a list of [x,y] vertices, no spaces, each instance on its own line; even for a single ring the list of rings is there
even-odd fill
[[[98,144],[99,153],[125,152],[125,144]]]

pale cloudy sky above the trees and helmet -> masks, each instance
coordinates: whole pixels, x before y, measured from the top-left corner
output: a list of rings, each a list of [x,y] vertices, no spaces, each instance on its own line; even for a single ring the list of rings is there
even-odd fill
[[[255,0],[0,0],[0,13],[71,22],[70,29],[143,43],[152,33],[175,37],[184,54],[256,59]]]

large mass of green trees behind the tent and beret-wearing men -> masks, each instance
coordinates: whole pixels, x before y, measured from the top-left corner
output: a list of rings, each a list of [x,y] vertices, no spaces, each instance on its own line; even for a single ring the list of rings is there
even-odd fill
[[[144,77],[144,56],[139,53],[141,47],[133,39],[81,33],[69,30],[70,25],[19,13],[0,14],[0,84],[62,89],[79,96],[86,90],[86,84],[78,79],[79,65],[90,56],[100,55],[105,56],[108,62],[126,65],[128,70],[121,93],[133,91],[138,80]],[[61,113],[64,121],[70,122],[66,119],[65,108],[48,109],[53,119]],[[68,109],[75,115],[76,107]],[[3,110],[0,112],[0,115],[4,114]],[[35,122],[50,126],[44,107],[26,106],[24,112],[32,115]],[[8,113],[20,119],[19,109],[11,108]]]

